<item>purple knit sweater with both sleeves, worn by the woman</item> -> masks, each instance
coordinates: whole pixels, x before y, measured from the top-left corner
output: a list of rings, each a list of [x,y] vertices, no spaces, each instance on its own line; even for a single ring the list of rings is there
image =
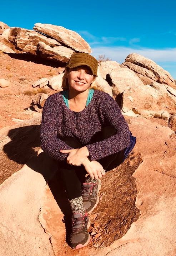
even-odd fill
[[[117,133],[103,141],[88,144],[91,137],[106,125]],[[70,150],[61,139],[78,139],[89,151],[91,161],[116,153],[130,144],[130,132],[116,101],[107,93],[95,90],[90,103],[80,112],[67,108],[61,93],[49,96],[44,104],[41,121],[41,148],[56,160],[65,160]]]

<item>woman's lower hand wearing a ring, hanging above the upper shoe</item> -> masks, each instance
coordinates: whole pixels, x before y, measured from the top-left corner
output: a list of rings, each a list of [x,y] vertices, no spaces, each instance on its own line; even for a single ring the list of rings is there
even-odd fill
[[[93,178],[98,179],[102,178],[105,175],[105,170],[103,169],[102,165],[97,161],[90,161],[87,157],[82,162],[84,165],[86,172]],[[104,171],[104,172],[103,172]]]

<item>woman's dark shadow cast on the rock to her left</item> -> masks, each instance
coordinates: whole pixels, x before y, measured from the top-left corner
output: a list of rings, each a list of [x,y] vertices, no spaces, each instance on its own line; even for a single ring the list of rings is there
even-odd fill
[[[40,123],[41,120],[37,122]],[[69,242],[68,237],[72,227],[71,209],[59,175],[57,161],[46,155],[45,152],[41,152],[39,155],[37,153],[40,149],[40,125],[35,124],[11,129],[8,136],[11,141],[3,147],[4,152],[2,153],[4,157],[1,158],[3,170],[8,171],[4,171],[4,176],[1,178],[2,182],[14,172],[20,170],[25,164],[32,170],[42,174],[57,205],[59,205],[61,212],[64,214],[63,222],[66,229],[66,241]]]

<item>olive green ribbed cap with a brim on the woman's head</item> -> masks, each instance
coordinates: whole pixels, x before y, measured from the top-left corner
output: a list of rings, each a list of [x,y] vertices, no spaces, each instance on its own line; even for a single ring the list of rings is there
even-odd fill
[[[78,66],[90,67],[92,74],[97,76],[98,61],[90,54],[84,52],[74,52],[71,55],[70,60],[67,62],[66,67],[74,68]]]

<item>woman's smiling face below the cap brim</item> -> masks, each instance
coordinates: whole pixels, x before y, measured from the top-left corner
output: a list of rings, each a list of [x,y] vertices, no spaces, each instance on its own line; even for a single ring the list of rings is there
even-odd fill
[[[67,79],[69,83],[69,88],[73,88],[76,91],[85,91],[87,90],[92,81],[94,80],[94,75],[89,67],[79,66],[75,68],[70,68]]]

